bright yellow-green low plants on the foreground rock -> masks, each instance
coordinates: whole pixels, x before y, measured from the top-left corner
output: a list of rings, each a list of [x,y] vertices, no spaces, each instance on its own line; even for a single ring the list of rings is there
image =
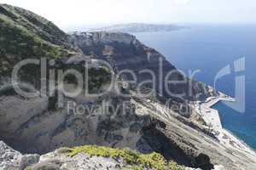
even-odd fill
[[[90,156],[112,157],[113,159],[123,158],[131,167],[127,169],[143,170],[144,167],[151,167],[155,170],[184,170],[184,167],[175,162],[167,162],[164,156],[153,152],[151,154],[141,154],[130,149],[114,149],[105,146],[84,145],[68,150],[68,156],[76,156],[84,152]]]

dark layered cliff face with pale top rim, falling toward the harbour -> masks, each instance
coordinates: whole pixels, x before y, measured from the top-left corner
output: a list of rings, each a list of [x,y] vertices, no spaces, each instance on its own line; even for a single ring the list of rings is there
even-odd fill
[[[86,55],[96,55],[107,60],[116,72],[130,70],[140,82],[155,80],[155,91],[164,99],[172,99],[182,103],[184,100],[203,100],[217,93],[202,82],[189,79],[175,68],[166,58],[139,42],[136,37],[125,33],[82,32],[72,35],[73,44],[81,48]],[[151,73],[143,71],[152,71]],[[171,73],[171,74],[170,74]],[[123,74],[126,81],[134,80],[131,74]],[[166,79],[165,79],[166,78]],[[183,81],[168,84],[167,81]],[[144,84],[144,88],[153,88],[152,83]],[[169,91],[169,92],[168,92]],[[177,95],[182,94],[182,95]]]

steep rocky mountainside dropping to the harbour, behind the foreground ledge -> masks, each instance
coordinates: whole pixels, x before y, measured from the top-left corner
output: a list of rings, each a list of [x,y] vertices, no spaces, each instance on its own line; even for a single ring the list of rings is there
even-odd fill
[[[181,106],[185,101],[206,99],[217,93],[202,82],[182,77],[164,56],[143,45],[136,37],[108,32],[67,35],[48,20],[9,5],[0,5],[0,21],[0,68],[3,68],[0,74],[0,139],[15,150],[23,154],[45,154],[63,146],[97,144],[115,148],[129,147],[145,154],[156,151],[167,161],[174,160],[203,170],[211,169],[214,165],[235,170],[253,169],[256,166],[256,156],[220,144],[207,127],[181,116],[181,110],[174,111],[166,107],[166,101],[168,105]],[[23,38],[24,35],[26,38]],[[72,68],[84,72],[84,60],[96,63],[96,69],[89,70],[90,92],[100,92],[109,85],[111,71],[99,65],[97,59],[108,61],[113,66],[115,78],[119,71],[134,71],[137,82],[129,83],[129,88],[118,88],[129,94],[125,97],[114,88],[100,97],[88,97],[83,93],[68,97],[58,89],[33,98],[17,94],[10,84],[11,69],[22,59],[38,59],[41,56],[55,59],[49,65],[51,70],[66,71]],[[159,82],[156,83],[154,94],[147,97],[139,94],[138,84],[151,78],[148,74],[140,73],[143,69],[153,71],[157,80],[165,77],[168,71],[176,71],[168,80],[185,79],[187,82],[171,85],[168,89],[174,94],[183,95],[169,95]],[[41,78],[38,66],[26,67],[19,76],[21,88],[39,93]],[[50,82],[49,73],[46,76],[46,82]],[[126,74],[119,77],[119,80],[128,82],[131,77]],[[58,81],[54,83],[54,87],[58,85]],[[77,83],[73,77],[68,77],[64,85],[72,91]],[[141,88],[143,93],[147,93],[153,87],[146,83]],[[61,106],[56,105],[60,98]],[[90,107],[84,114],[77,114],[70,109],[70,102],[85,108],[97,107]],[[106,104],[108,114],[102,114]],[[188,113],[185,116],[189,117]],[[14,166],[15,160],[20,160],[20,152],[15,150],[10,151],[15,153],[13,157],[17,157],[13,160]],[[5,153],[4,159],[9,160]],[[62,155],[59,156],[62,158]],[[78,162],[75,158],[67,161]],[[8,162],[12,164],[12,161]]]

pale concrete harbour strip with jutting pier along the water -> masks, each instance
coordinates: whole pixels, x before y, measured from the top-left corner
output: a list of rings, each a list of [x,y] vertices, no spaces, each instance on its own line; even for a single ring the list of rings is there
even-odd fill
[[[212,108],[213,105],[218,104],[220,101],[235,102],[236,99],[219,93],[217,97],[210,97],[205,101],[197,101],[193,103],[192,107],[207,123],[207,127],[219,140],[220,144],[224,144],[233,149],[242,150],[247,152],[249,155],[256,156],[256,152],[253,150],[253,148],[248,146],[242,139],[239,139],[239,137],[222,126],[218,110]]]

